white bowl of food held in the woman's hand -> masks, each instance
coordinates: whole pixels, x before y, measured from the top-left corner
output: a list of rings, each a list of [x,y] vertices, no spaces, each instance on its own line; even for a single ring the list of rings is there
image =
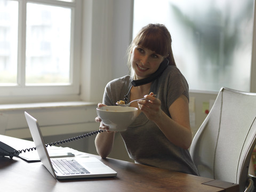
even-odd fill
[[[137,116],[135,107],[103,106],[97,107],[97,114],[109,131],[125,131]]]

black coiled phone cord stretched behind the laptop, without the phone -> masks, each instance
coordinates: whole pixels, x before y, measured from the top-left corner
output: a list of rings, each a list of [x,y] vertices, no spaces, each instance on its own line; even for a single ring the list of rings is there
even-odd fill
[[[72,141],[75,141],[75,140],[78,140],[78,139],[83,139],[83,138],[86,138],[86,137],[90,137],[92,135],[96,135],[96,134],[101,133],[101,132],[104,132],[104,131],[103,130],[97,130],[97,131],[93,131],[93,132],[90,132],[90,133],[85,133],[83,135],[79,135],[79,136],[76,136],[76,137],[73,137],[73,138],[47,143],[47,144],[45,144],[45,147],[49,147],[49,146],[51,147],[53,145],[54,146],[61,145],[63,143],[72,142]],[[25,152],[30,151],[30,150],[31,151],[36,150],[36,147],[31,147],[31,148],[22,149],[22,150],[14,150],[14,151],[10,152],[10,157],[13,156],[13,155],[20,154],[20,153],[25,153]]]

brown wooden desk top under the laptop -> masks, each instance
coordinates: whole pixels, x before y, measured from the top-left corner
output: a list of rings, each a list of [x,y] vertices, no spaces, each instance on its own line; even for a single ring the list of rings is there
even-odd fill
[[[0,141],[6,139],[17,141],[13,145],[24,143],[27,147],[28,141],[0,135]],[[89,155],[114,169],[117,176],[60,181],[54,179],[41,162],[27,163],[19,157],[0,157],[1,191],[239,191],[239,186],[234,183]]]

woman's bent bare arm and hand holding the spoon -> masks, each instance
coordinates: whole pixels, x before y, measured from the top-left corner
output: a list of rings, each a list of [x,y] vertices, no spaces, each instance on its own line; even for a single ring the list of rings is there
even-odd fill
[[[192,133],[189,122],[188,99],[181,95],[169,107],[172,118],[161,109],[161,101],[153,96],[146,95],[145,100],[138,101],[140,110],[153,121],[174,145],[188,149],[192,142]]]

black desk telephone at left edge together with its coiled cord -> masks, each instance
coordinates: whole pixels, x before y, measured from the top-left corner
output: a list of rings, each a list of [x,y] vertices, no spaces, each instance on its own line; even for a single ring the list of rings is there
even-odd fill
[[[98,133],[104,132],[102,130],[97,130],[97,131],[93,131],[90,133],[86,133],[83,135],[79,135],[77,137],[73,137],[73,138],[69,138],[69,139],[65,139],[65,140],[61,140],[61,141],[55,141],[55,142],[51,142],[51,143],[47,143],[45,144],[45,147],[51,147],[51,146],[56,146],[56,145],[61,145],[62,143],[67,143],[67,142],[71,142],[71,141],[75,141],[78,139],[83,139],[86,137],[90,137],[91,135],[95,135]],[[25,153],[26,151],[33,151],[36,150],[36,147],[32,147],[29,149],[22,149],[22,150],[15,150],[12,147],[10,147],[9,145],[6,145],[5,143],[0,141],[0,156],[9,156],[10,158],[12,158],[13,156],[19,156],[20,153]]]

